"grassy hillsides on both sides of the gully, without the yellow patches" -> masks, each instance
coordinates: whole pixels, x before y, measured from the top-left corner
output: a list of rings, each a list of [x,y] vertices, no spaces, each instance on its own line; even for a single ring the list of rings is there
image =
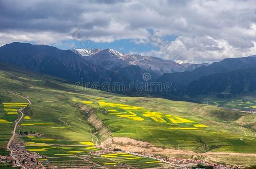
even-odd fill
[[[33,102],[33,105],[26,110],[26,115],[29,115],[31,119],[24,119],[22,124],[55,124],[22,126],[23,131],[36,131],[63,143],[91,141],[90,126],[84,121],[83,112],[71,105],[71,98],[87,101],[97,101],[97,98],[101,98],[106,102],[123,104],[122,100],[125,101],[125,104],[143,106],[150,111],[180,116],[209,126],[199,131],[170,130],[168,129],[169,125],[155,121],[141,122],[98,113],[97,116],[112,131],[112,136],[130,137],[149,141],[159,147],[188,149],[197,152],[212,150],[256,153],[256,140],[253,132],[243,128],[248,134],[245,136],[239,126],[235,124],[235,121],[239,121],[243,116],[248,116],[244,113],[232,112],[215,106],[160,98],[124,97],[91,89],[76,92],[73,90],[73,85],[62,83],[62,79],[21,71],[17,73],[15,69],[3,65],[0,65],[1,68],[7,70],[0,71],[0,88],[2,89],[0,92],[21,93],[24,96],[29,96]],[[14,76],[16,80],[11,80]],[[250,116],[255,118],[254,115]],[[246,120],[244,121],[246,123]],[[52,128],[53,126],[68,128]]]

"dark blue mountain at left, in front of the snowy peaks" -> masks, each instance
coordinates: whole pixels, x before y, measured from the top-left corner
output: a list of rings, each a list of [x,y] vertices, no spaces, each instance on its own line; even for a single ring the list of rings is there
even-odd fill
[[[70,50],[48,45],[10,43],[0,47],[0,62],[10,63],[30,71],[37,71],[69,81],[121,81],[116,73],[107,71],[82,59]]]

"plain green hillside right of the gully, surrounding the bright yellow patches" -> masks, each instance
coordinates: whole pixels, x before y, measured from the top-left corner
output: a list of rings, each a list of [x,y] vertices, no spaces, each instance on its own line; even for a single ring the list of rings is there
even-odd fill
[[[231,112],[215,106],[160,98],[113,97],[109,101],[113,100],[125,100],[125,104],[143,106],[152,111],[180,116],[209,126],[200,131],[170,130],[168,129],[170,125],[159,122],[133,121],[114,115],[98,114],[114,131],[113,136],[127,136],[149,141],[159,147],[189,149],[197,152],[209,151],[216,147],[220,148],[212,151],[255,152],[251,149],[255,143],[253,132],[245,129],[248,134],[246,137],[243,131],[240,131],[239,126],[232,122],[244,115],[243,113]]]

